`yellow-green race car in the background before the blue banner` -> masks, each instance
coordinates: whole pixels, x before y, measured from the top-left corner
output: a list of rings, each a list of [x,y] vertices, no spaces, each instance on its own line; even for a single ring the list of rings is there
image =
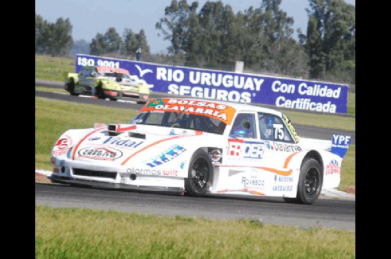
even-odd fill
[[[135,98],[137,103],[146,103],[150,87],[123,68],[84,66],[79,73],[68,73],[64,88],[71,95],[92,95],[113,101]]]

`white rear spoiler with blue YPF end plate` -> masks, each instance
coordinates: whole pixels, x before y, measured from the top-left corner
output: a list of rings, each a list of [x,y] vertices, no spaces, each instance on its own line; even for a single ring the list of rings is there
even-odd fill
[[[333,134],[331,140],[300,137],[300,145],[329,151],[343,158],[348,151],[351,137]]]

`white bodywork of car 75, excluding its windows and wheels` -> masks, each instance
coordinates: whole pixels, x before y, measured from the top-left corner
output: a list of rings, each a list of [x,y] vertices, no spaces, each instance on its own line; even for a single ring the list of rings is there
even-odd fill
[[[281,112],[272,109],[229,105],[237,113],[259,111],[281,117]],[[301,164],[311,151],[321,157],[323,187],[338,187],[342,158],[327,151],[331,142],[301,139],[284,143],[264,141],[259,135],[254,139],[231,138],[231,127],[227,125],[223,135],[139,124],[117,125],[121,133],[117,136],[109,136],[107,127],[67,130],[52,150],[52,175],[70,182],[184,190],[192,155],[197,149],[208,152],[209,148],[219,149],[222,157],[214,162],[209,193],[296,197]],[[141,135],[129,137],[129,132]],[[77,173],[80,169],[112,172],[114,176],[82,175]],[[136,178],[131,179],[130,174]]]

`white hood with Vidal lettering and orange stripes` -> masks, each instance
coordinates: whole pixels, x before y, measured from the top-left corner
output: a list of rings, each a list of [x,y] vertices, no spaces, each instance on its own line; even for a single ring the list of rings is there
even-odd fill
[[[219,135],[170,127],[118,124],[115,131],[99,128],[83,136],[75,143],[72,159],[124,166],[127,163],[145,162],[167,150],[177,155],[185,150],[190,151],[193,141],[210,144],[212,139],[218,141]]]

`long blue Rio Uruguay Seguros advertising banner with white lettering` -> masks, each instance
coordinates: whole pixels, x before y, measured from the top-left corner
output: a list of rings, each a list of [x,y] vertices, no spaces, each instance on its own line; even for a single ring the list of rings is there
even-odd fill
[[[154,92],[329,113],[348,112],[347,85],[76,54],[76,73],[86,65],[125,68],[130,75],[152,85]]]

